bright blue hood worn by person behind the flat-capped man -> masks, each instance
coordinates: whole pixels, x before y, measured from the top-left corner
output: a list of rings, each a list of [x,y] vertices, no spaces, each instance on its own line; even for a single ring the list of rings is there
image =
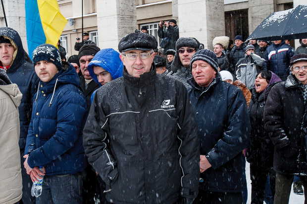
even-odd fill
[[[105,71],[109,72],[112,80],[123,76],[124,65],[119,58],[119,53],[112,48],[102,49],[97,52],[88,65],[88,70],[92,79],[102,86],[94,74],[94,66],[102,67]]]

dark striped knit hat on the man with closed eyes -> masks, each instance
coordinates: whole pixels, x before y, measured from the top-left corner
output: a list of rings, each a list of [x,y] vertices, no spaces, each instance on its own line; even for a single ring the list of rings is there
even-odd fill
[[[215,71],[218,73],[217,57],[215,53],[209,49],[201,49],[192,56],[190,68],[192,69],[192,64],[196,60],[203,60],[208,63]]]

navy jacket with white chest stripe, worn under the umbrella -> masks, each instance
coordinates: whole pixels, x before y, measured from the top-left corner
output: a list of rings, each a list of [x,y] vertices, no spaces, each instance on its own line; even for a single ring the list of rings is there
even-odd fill
[[[293,55],[292,47],[285,41],[280,44],[272,43],[266,48],[262,69],[274,72],[282,81],[285,81],[290,74],[290,60]]]

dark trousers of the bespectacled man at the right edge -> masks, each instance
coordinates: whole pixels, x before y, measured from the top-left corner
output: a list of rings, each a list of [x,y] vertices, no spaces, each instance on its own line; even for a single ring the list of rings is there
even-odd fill
[[[294,175],[276,173],[276,193],[274,204],[288,204]],[[304,189],[307,188],[307,176],[300,176]],[[305,204],[307,204],[307,194],[305,193]]]

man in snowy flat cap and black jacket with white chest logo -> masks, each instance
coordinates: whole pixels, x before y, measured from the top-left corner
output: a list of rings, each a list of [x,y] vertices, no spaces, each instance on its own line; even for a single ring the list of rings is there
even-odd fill
[[[156,46],[144,33],[119,42],[123,77],[96,91],[84,128],[86,155],[110,203],[191,204],[198,194],[192,106],[181,82],[156,74]]]

